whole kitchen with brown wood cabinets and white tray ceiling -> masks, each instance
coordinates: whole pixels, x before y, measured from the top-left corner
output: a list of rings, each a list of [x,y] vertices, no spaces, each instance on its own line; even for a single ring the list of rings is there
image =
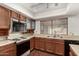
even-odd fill
[[[79,56],[77,5],[0,3],[0,56]]]

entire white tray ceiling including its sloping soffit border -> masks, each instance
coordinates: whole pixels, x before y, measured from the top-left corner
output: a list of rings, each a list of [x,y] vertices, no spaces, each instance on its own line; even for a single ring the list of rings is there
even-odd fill
[[[0,5],[35,20],[79,14],[79,3],[0,3]]]

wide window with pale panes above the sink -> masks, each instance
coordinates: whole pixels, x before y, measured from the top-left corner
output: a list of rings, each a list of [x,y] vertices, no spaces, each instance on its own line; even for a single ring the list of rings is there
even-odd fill
[[[67,18],[40,21],[40,34],[67,34]]]

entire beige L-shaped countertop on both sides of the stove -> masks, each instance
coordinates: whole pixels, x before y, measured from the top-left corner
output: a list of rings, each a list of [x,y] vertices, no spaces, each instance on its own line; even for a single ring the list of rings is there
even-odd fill
[[[76,36],[76,37],[75,36],[63,36],[61,38],[61,37],[53,37],[52,35],[44,35],[44,34],[33,34],[33,35],[24,34],[23,37],[25,39],[18,40],[16,43],[20,43],[22,41],[29,40],[32,37],[41,37],[41,38],[49,38],[49,39],[60,39],[60,40],[77,40],[77,41],[79,41],[79,36]],[[10,44],[10,43],[13,43],[13,42],[15,42],[15,41],[13,41],[13,40],[0,40],[0,46],[6,45],[6,44]]]

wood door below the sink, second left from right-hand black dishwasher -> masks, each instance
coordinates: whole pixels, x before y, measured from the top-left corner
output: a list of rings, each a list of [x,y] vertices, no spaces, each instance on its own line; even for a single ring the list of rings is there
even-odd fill
[[[55,43],[54,40],[47,39],[46,40],[46,51],[55,53]]]

